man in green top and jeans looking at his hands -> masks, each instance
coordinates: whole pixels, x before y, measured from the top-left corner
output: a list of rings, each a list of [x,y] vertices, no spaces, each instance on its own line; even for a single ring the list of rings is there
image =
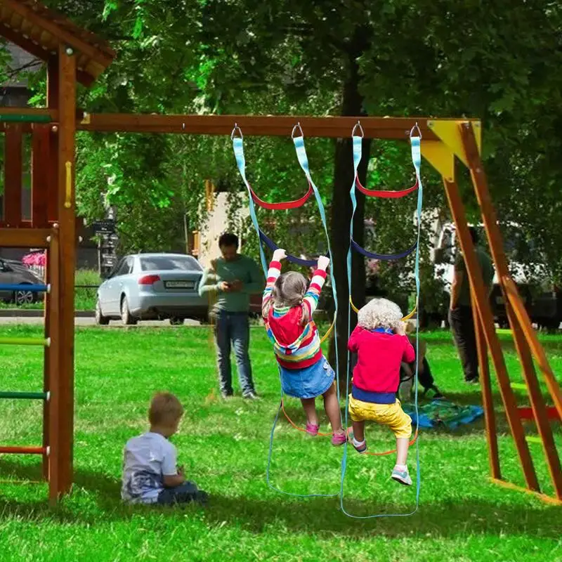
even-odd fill
[[[263,292],[263,275],[256,262],[238,254],[238,237],[226,233],[218,239],[222,256],[205,270],[199,294],[209,296],[214,320],[218,384],[223,398],[233,396],[230,344],[234,348],[242,396],[258,398],[251,377],[249,346],[250,295]]]

